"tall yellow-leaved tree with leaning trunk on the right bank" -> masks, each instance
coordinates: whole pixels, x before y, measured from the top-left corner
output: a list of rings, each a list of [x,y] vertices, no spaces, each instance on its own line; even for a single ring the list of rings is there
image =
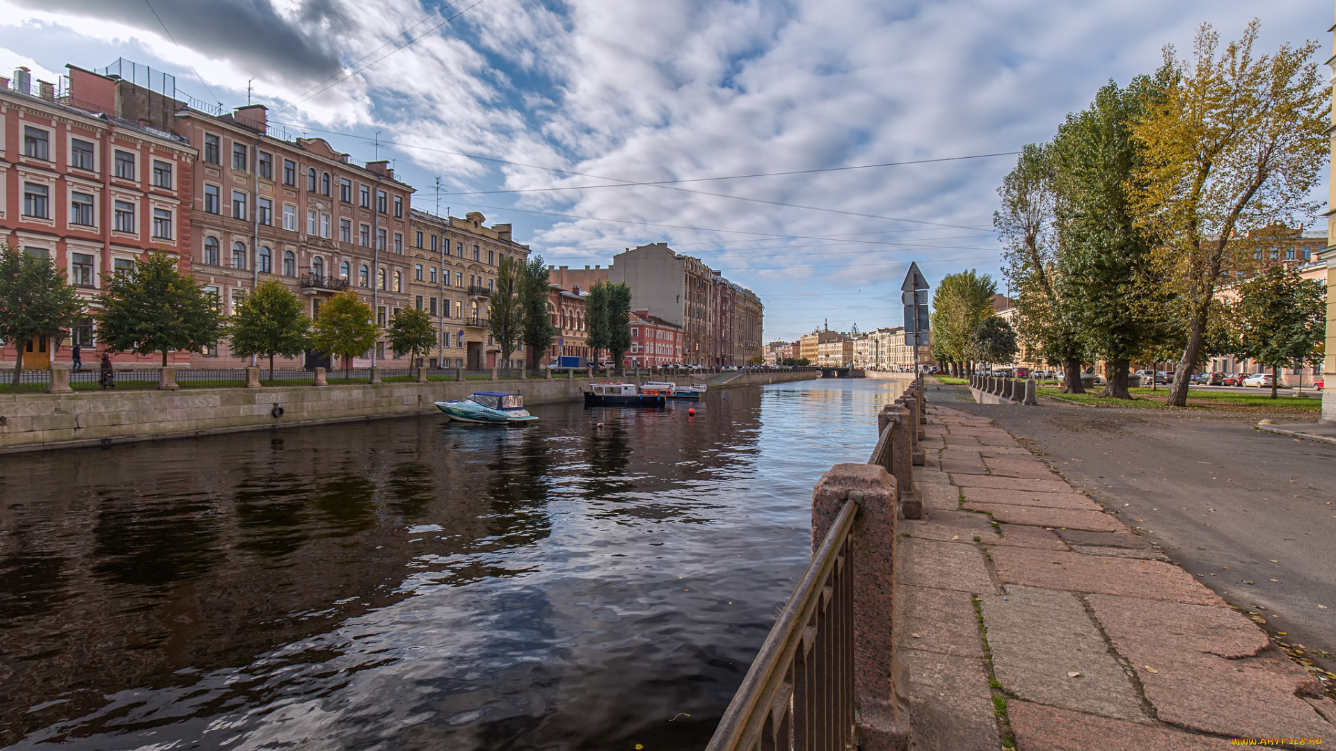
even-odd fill
[[[1328,155],[1331,106],[1312,59],[1317,44],[1253,56],[1257,29],[1255,20],[1217,57],[1220,37],[1202,24],[1190,63],[1165,47],[1166,87],[1133,124],[1145,150],[1133,210],[1161,241],[1158,274],[1188,331],[1168,401],[1174,406],[1188,402],[1216,285],[1246,247],[1241,238],[1316,211],[1309,194]]]

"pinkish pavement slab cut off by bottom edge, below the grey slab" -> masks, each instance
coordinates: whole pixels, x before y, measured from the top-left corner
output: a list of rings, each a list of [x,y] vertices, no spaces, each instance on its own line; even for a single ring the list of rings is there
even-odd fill
[[[1019,751],[1221,751],[1229,740],[1081,712],[1007,702]],[[1237,747],[1234,747],[1237,748]]]

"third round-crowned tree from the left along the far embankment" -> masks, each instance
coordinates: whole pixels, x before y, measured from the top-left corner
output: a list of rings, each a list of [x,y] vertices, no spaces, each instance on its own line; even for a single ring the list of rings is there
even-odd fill
[[[274,380],[274,355],[295,357],[306,351],[311,321],[302,310],[302,301],[287,291],[283,282],[270,277],[255,291],[232,305],[227,326],[228,347],[234,355],[269,357],[269,378]]]

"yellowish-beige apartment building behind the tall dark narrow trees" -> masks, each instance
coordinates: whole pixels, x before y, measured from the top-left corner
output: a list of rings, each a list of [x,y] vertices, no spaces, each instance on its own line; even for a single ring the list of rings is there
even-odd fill
[[[497,362],[501,350],[488,333],[488,299],[501,259],[524,263],[529,247],[512,239],[510,224],[488,227],[485,222],[477,211],[462,219],[415,208],[410,214],[410,303],[428,311],[438,329],[429,367],[485,370],[524,363],[522,347],[509,363]]]

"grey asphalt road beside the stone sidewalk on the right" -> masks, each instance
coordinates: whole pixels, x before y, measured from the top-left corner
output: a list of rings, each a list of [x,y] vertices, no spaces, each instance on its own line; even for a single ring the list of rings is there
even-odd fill
[[[1261,416],[979,405],[961,393],[929,400],[995,420],[1271,633],[1336,655],[1336,445],[1253,430]]]

